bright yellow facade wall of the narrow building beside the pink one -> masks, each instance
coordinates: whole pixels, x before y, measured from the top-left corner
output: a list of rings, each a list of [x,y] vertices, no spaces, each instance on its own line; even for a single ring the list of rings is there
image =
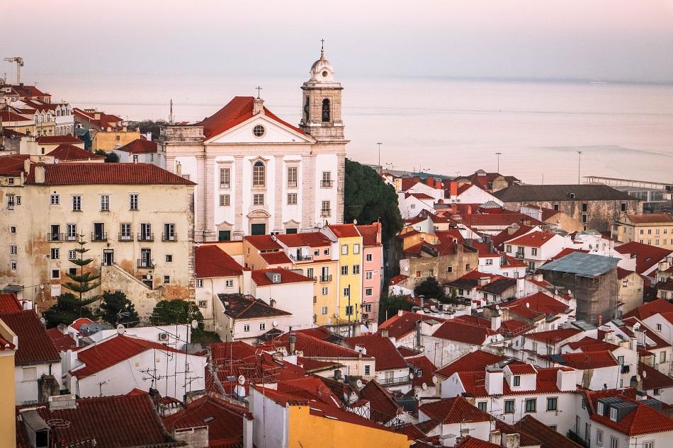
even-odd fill
[[[349,298],[347,295],[344,295],[344,288],[351,288],[351,306],[354,306],[353,314],[351,314],[351,322],[358,321],[361,319],[361,304],[362,304],[362,237],[361,236],[351,236],[348,238],[339,238],[339,268],[337,268],[337,275],[339,275],[339,290],[336,292],[338,297],[338,306],[339,310],[337,314],[339,315],[339,322],[348,322],[349,316],[346,315],[346,306],[349,304]],[[354,253],[354,245],[360,245],[359,253]],[[345,255],[342,253],[342,247],[348,246],[348,253]],[[348,275],[341,275],[341,267],[347,265],[349,267]],[[353,266],[360,266],[360,273],[353,273]]]

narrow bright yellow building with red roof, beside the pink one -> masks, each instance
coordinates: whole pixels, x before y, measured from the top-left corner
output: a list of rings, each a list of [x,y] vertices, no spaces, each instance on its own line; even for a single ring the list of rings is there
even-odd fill
[[[354,224],[333,224],[321,231],[332,241],[332,251],[339,254],[334,323],[361,321],[362,236]]]

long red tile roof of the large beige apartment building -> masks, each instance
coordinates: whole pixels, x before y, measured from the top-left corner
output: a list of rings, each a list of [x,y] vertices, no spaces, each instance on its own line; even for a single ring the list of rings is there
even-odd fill
[[[40,185],[196,185],[152,163],[47,163]],[[35,183],[35,165],[27,184]]]

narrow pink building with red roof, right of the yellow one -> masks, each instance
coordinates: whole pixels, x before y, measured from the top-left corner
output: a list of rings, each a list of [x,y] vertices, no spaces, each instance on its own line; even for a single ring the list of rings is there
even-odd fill
[[[378,322],[378,301],[381,297],[383,279],[383,245],[381,244],[381,223],[358,226],[362,235],[362,318]]]

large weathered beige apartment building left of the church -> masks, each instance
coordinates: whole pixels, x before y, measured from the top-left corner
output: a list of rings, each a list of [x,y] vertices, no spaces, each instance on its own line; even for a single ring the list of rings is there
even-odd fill
[[[0,177],[0,288],[50,306],[69,291],[81,236],[100,289],[125,292],[141,316],[160,299],[193,299],[191,181],[148,163],[30,159],[0,160]]]

